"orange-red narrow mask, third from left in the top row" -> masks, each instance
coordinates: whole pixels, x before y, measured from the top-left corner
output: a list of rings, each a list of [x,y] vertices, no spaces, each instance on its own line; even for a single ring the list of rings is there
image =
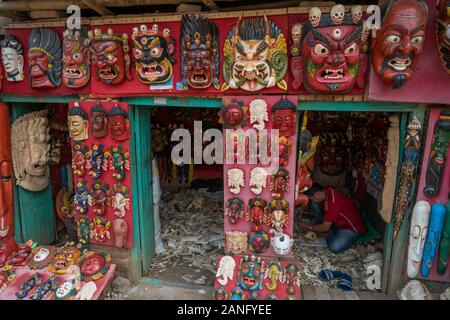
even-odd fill
[[[84,87],[91,77],[90,60],[87,29],[80,30],[66,29],[63,39],[63,84],[67,88]]]

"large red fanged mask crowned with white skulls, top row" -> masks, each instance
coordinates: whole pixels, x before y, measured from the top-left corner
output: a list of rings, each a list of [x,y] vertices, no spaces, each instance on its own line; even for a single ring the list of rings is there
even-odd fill
[[[337,4],[329,14],[311,8],[309,21],[292,29],[292,87],[329,94],[364,88],[369,49],[365,27],[361,6],[345,13]]]

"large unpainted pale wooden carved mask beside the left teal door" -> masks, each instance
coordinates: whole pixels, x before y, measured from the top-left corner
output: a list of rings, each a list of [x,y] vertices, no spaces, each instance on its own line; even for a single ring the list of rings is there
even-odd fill
[[[28,113],[14,121],[11,129],[16,182],[29,191],[47,188],[50,152],[47,110]]]

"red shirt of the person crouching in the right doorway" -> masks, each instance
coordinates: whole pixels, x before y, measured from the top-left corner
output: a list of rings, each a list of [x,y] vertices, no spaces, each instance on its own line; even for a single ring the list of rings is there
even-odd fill
[[[366,233],[358,207],[346,196],[332,188],[325,188],[324,221],[332,222],[338,229]]]

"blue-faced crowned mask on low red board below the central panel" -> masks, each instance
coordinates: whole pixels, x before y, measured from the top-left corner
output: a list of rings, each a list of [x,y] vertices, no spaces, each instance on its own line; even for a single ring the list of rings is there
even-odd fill
[[[264,276],[264,262],[260,257],[241,258],[237,285],[244,290],[261,290]]]

